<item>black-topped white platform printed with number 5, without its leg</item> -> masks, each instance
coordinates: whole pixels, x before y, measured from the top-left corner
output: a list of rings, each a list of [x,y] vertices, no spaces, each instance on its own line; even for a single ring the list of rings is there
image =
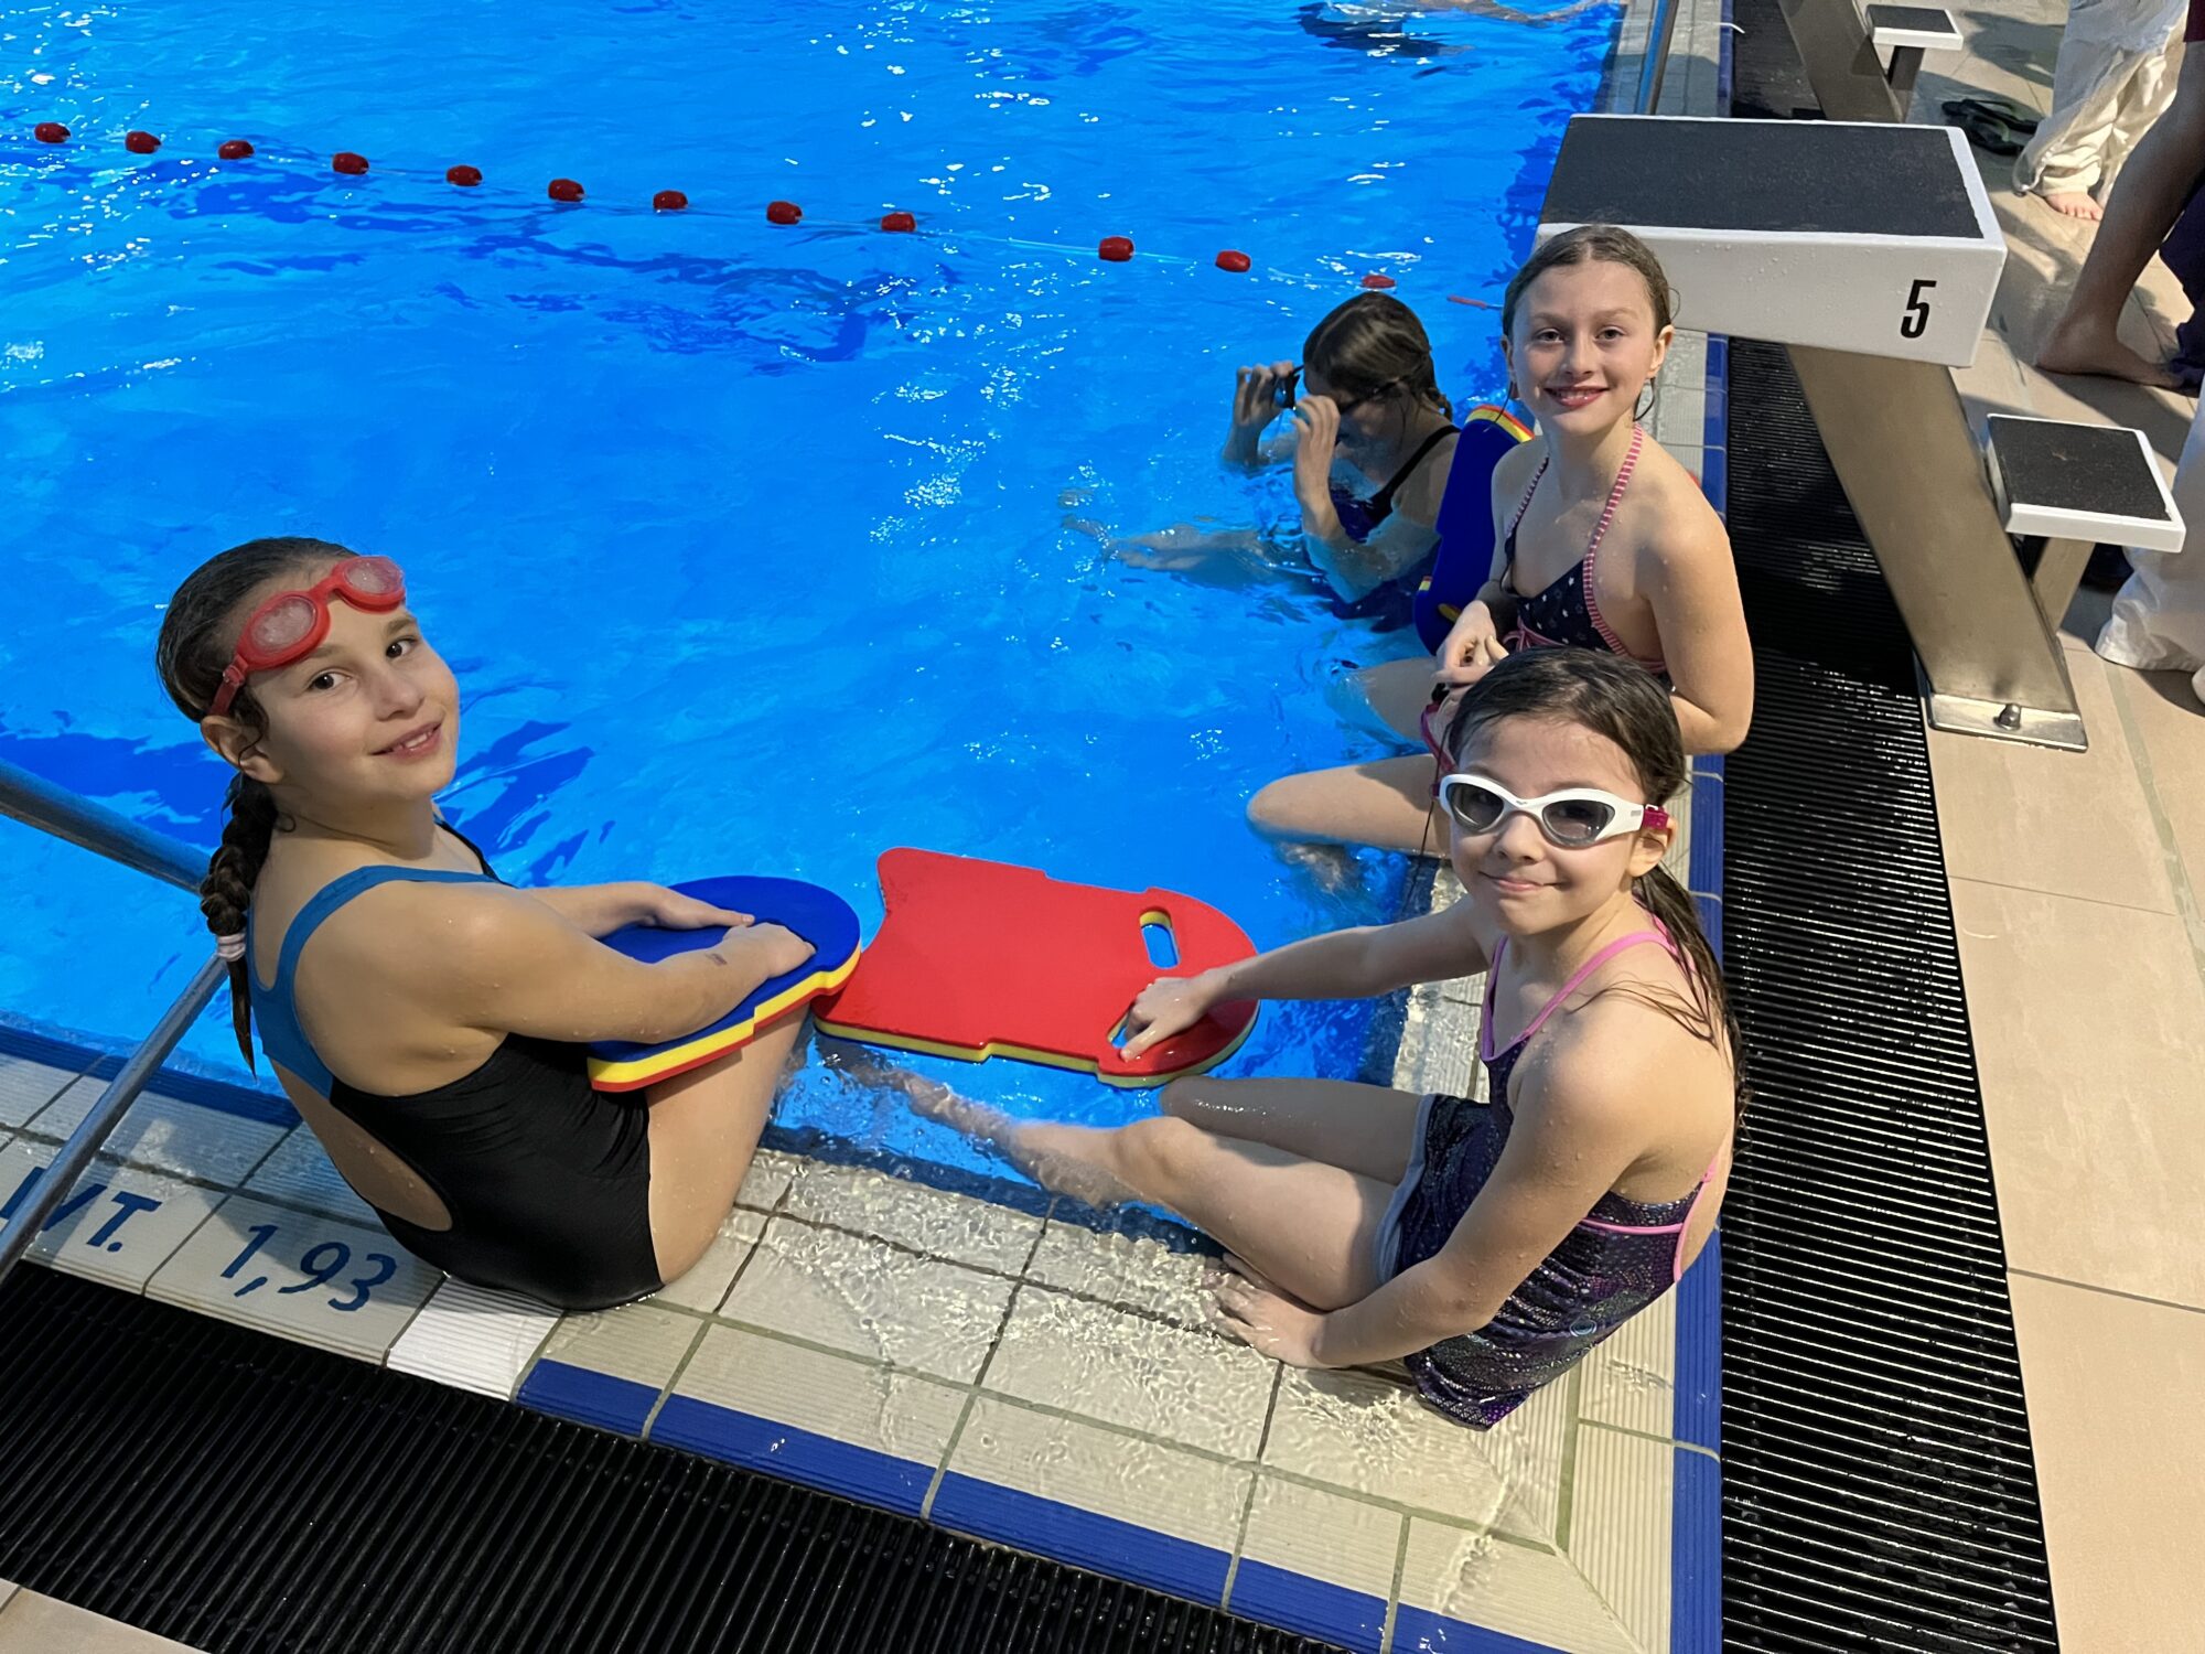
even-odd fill
[[[1976,359],[2007,262],[1949,126],[1579,115],[1539,218],[1632,229],[1682,326],[1945,366]]]

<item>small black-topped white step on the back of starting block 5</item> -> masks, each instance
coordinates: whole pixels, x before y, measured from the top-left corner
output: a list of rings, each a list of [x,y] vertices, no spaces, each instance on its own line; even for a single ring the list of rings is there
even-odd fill
[[[1989,459],[2009,534],[2181,551],[2183,520],[2141,430],[1991,415]]]

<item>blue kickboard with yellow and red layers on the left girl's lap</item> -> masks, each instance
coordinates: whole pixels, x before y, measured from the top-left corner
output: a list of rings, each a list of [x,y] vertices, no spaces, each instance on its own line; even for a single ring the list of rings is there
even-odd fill
[[[833,891],[794,878],[701,878],[675,884],[675,889],[712,906],[750,913],[761,924],[787,926],[809,942],[814,953],[794,970],[761,981],[743,1003],[697,1032],[659,1045],[620,1039],[591,1041],[589,1083],[600,1092],[635,1092],[741,1050],[763,1028],[840,988],[858,968],[858,915]],[[631,924],[613,931],[604,944],[642,964],[657,964],[677,953],[710,948],[723,935],[725,931],[717,926],[659,931],[648,924]]]

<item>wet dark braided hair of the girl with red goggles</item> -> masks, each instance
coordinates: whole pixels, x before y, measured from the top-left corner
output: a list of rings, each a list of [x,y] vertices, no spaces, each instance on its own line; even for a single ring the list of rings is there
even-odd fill
[[[287,576],[300,576],[300,584],[311,584],[311,576],[348,556],[353,554],[329,540],[282,536],[234,545],[192,569],[176,587],[176,595],[168,600],[161,637],[154,642],[154,668],[161,673],[161,688],[168,690],[176,710],[192,723],[207,717],[207,708],[214,706],[214,695],[223,686],[223,668],[229,666],[238,646],[238,629],[245,624],[240,609],[256,589]],[[251,684],[238,690],[229,704],[229,717],[254,737],[267,734],[267,712],[254,699]],[[223,803],[229,809],[223,842],[207,860],[207,876],[198,882],[198,911],[207,915],[207,928],[218,937],[245,928],[245,909],[251,906],[260,864],[267,862],[269,840],[282,818],[276,794],[243,772],[229,778],[229,794]],[[238,1050],[245,1052],[245,1065],[251,1067],[251,970],[247,966],[247,959],[229,962],[229,1019],[238,1034]]]

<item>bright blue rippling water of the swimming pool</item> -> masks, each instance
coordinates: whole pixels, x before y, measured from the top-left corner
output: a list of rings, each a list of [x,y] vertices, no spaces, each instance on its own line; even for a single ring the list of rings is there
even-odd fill
[[[871,928],[873,858],[924,845],[1180,889],[1259,944],[1389,917],[1396,860],[1319,878],[1241,809],[1376,750],[1341,679],[1402,640],[1096,527],[1290,520],[1283,476],[1215,463],[1233,366],[1299,353],[1365,271],[1458,408],[1491,395],[1491,313],[1449,296],[1499,296],[1614,20],[0,0],[0,756],[212,845],[159,609],[304,531],[406,565],[465,692],[448,807],[509,878],[774,871]],[[260,154],[216,163],[229,137]],[[662,187],[692,210],[650,214]],[[1098,262],[1109,234],[1140,256]],[[0,1012],[139,1034],[205,957],[192,902],[0,831]],[[1272,1008],[1230,1072],[1352,1072],[1365,1030]],[[185,1054],[238,1070],[223,1003]],[[970,1164],[827,1074],[783,1120]]]

